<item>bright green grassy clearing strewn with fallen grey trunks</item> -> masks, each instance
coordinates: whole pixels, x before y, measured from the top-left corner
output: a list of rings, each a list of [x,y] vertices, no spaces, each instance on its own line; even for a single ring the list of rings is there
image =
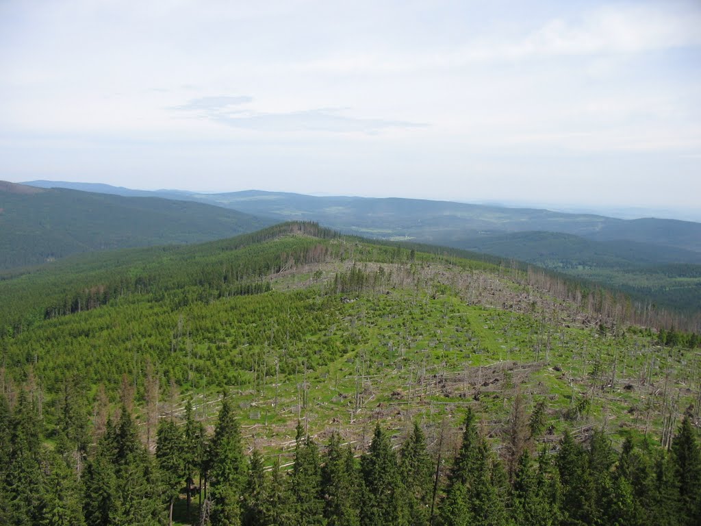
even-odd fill
[[[280,285],[290,286],[290,277]],[[632,332],[606,335],[538,313],[469,305],[459,292],[431,297],[404,289],[335,300],[341,322],[309,337],[338,336],[338,358],[263,381],[247,372],[231,387],[247,444],[268,459],[289,457],[297,419],[322,442],[336,430],[362,450],[378,419],[398,440],[414,419],[437,433],[468,405],[498,443],[517,391],[528,407],[545,402],[543,443],[554,444],[566,426],[604,426],[615,441],[629,433],[659,436],[665,415],[678,417],[693,404],[690,384],[698,388],[689,367],[697,354],[661,349]],[[266,360],[275,360],[274,351]],[[205,393],[210,424],[215,398]]]

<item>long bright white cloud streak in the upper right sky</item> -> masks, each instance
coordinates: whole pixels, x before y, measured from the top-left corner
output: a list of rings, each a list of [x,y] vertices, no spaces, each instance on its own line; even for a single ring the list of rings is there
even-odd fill
[[[487,32],[458,45],[411,53],[365,50],[297,62],[304,73],[404,74],[455,71],[473,65],[544,58],[632,55],[701,46],[701,10],[654,5],[601,6],[577,15],[539,20],[512,33]]]

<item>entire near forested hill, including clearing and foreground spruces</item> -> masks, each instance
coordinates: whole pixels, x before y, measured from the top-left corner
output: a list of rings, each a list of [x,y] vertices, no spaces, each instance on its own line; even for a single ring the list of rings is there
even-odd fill
[[[463,256],[294,222],[6,276],[0,524],[697,524],[698,325]]]

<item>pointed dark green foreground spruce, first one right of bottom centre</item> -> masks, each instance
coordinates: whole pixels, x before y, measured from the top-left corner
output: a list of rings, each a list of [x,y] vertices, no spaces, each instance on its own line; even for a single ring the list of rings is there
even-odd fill
[[[407,525],[406,491],[390,438],[376,424],[369,451],[360,459],[362,471],[362,526]]]

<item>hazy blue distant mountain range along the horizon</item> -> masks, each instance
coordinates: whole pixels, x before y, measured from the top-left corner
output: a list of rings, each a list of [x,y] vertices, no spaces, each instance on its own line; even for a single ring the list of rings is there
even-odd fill
[[[405,198],[307,196],[270,191],[204,194],[179,190],[142,191],[107,184],[31,181],[33,187],[63,187],[121,196],[157,196],[232,208],[273,220],[313,220],[346,233],[373,238],[414,239],[460,245],[465,240],[513,232],[547,231],[583,236],[593,241],[635,241],[701,252],[701,223],[665,220],[621,220],[593,214],[506,208],[452,201]],[[660,261],[663,261],[662,257]]]

